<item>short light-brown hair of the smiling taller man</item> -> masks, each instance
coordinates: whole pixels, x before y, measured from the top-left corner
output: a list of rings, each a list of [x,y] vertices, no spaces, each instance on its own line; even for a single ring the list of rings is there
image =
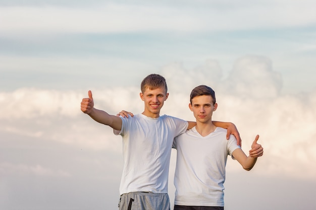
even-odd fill
[[[168,91],[166,79],[163,76],[157,74],[148,75],[143,79],[140,84],[141,92],[144,93],[147,88],[149,88],[149,90],[164,88],[166,93]]]

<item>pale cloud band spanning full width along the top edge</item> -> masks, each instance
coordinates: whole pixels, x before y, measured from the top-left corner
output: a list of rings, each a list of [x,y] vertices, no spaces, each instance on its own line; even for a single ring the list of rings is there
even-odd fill
[[[218,2],[217,2],[218,3]],[[284,4],[287,6],[284,7]],[[146,31],[214,32],[279,27],[306,27],[315,23],[313,2],[276,2],[244,5],[229,3],[182,5],[107,4],[85,8],[61,6],[2,7],[1,36],[45,37],[67,33],[127,33]],[[196,8],[199,8],[196,10]],[[300,11],[304,11],[303,13]],[[299,13],[300,15],[294,15]],[[229,15],[228,15],[229,14]],[[266,14],[269,14],[268,16]],[[234,17],[233,19],[231,17]],[[220,22],[217,20],[221,20]]]

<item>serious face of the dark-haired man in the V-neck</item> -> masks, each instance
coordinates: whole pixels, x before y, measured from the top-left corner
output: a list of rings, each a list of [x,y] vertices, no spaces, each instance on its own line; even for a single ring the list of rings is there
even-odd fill
[[[212,96],[195,96],[192,98],[189,108],[193,112],[197,123],[209,123],[212,122],[213,111],[216,110],[217,103],[213,105]]]

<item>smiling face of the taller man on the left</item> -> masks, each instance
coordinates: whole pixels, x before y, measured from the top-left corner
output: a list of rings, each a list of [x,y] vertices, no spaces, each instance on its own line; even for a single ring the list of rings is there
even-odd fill
[[[167,100],[169,93],[166,93],[165,88],[156,88],[150,90],[146,88],[143,93],[140,93],[141,100],[145,103],[145,110],[143,115],[151,118],[157,118],[160,115],[160,110],[164,106],[164,102]]]

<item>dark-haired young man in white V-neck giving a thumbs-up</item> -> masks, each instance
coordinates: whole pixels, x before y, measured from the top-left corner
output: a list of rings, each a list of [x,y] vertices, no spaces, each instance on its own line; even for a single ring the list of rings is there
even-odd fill
[[[231,155],[245,170],[251,170],[264,153],[257,144],[258,135],[248,157],[234,135],[227,141],[227,130],[212,122],[217,107],[212,88],[202,85],[192,90],[189,108],[196,126],[175,137],[173,143],[177,149],[174,210],[223,210],[227,156]]]

